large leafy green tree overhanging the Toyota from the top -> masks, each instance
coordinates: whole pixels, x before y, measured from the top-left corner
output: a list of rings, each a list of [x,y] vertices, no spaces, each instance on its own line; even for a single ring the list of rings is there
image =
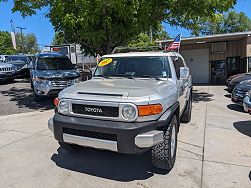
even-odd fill
[[[105,54],[150,27],[156,30],[161,22],[192,29],[199,19],[214,19],[216,13],[227,11],[236,1],[16,0],[13,11],[30,16],[37,9],[49,7],[47,17],[68,42],[81,44],[87,53]]]

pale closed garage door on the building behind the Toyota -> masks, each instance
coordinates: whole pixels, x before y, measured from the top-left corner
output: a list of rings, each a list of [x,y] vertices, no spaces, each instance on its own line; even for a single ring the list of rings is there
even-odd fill
[[[209,83],[209,49],[180,52],[190,68],[193,83]]]

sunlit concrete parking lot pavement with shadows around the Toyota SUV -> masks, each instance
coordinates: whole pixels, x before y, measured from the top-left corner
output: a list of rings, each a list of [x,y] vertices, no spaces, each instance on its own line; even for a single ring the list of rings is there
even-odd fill
[[[251,116],[224,86],[195,86],[169,173],[150,157],[59,148],[47,128],[52,99],[36,103],[25,80],[0,86],[0,187],[251,187]]]

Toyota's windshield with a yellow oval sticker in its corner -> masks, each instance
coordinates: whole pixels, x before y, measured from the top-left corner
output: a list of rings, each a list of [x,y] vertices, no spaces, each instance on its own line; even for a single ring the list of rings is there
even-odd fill
[[[167,57],[102,58],[94,77],[170,78]]]

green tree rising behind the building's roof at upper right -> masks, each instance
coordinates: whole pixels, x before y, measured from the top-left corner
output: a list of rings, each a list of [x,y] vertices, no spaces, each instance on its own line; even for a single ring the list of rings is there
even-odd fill
[[[219,14],[216,20],[208,20],[198,24],[194,28],[195,35],[212,35],[221,33],[234,33],[251,30],[251,20],[245,13],[237,13],[231,10],[225,14]]]

